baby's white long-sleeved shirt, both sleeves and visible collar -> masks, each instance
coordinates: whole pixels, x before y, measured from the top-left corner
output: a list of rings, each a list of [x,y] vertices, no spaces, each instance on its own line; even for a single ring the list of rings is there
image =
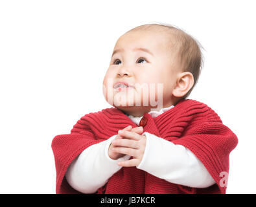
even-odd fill
[[[150,111],[148,114],[156,117],[172,107],[174,106],[163,108],[160,111]],[[128,115],[128,117],[139,125],[143,116]],[[215,180],[204,164],[189,149],[148,132],[143,135],[146,136],[145,152],[141,163],[136,168],[160,179],[184,186],[207,188],[215,184]],[[108,156],[108,148],[115,137],[116,135],[113,135],[108,140],[87,147],[73,160],[65,175],[72,188],[82,193],[95,193],[122,168],[117,163],[128,160],[129,155],[117,160]]]

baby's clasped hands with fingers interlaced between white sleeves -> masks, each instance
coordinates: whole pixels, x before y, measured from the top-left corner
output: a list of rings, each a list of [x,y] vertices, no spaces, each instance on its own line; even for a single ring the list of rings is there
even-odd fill
[[[129,125],[118,131],[118,135],[112,140],[108,149],[108,156],[117,160],[124,155],[130,155],[130,160],[119,162],[122,167],[139,166],[143,158],[146,147],[146,136],[143,133],[143,127],[134,127]]]

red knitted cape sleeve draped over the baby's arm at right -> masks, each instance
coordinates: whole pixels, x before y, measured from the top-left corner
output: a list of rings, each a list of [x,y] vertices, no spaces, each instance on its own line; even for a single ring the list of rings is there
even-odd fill
[[[226,125],[221,122],[204,122],[191,127],[184,136],[172,142],[190,149],[216,182],[209,189],[196,189],[197,193],[207,193],[207,190],[226,193],[227,183],[223,176],[227,179],[229,153],[238,144],[237,136]]]

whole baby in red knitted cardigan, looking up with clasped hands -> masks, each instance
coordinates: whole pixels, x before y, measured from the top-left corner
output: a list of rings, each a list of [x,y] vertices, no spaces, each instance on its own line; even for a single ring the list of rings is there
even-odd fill
[[[103,80],[113,105],[52,140],[56,193],[226,193],[237,136],[206,104],[197,41],[170,25],[129,30]]]

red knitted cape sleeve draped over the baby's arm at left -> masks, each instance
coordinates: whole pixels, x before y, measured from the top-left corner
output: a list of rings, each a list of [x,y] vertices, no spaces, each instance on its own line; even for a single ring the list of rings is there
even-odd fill
[[[56,193],[79,193],[69,186],[65,173],[71,162],[87,147],[102,142],[97,139],[81,118],[76,122],[70,134],[57,135],[52,140],[56,168]]]

